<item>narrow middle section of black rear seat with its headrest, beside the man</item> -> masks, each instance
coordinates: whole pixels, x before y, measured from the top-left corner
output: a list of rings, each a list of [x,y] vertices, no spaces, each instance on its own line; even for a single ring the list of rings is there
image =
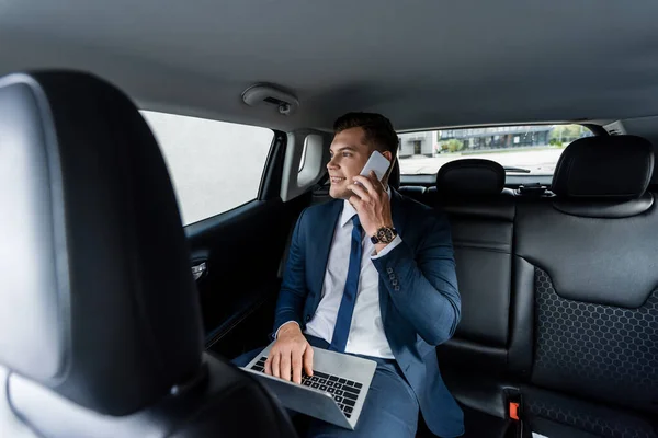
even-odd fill
[[[438,348],[443,378],[465,414],[466,437],[502,437],[509,422],[514,198],[489,160],[444,164],[423,201],[445,211],[462,295],[455,336]]]

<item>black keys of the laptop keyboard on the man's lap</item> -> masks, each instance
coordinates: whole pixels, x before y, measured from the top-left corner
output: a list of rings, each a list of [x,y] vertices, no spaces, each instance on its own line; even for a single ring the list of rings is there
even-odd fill
[[[251,369],[254,371],[264,372],[266,359],[268,358],[265,356],[261,357],[258,362],[251,367]],[[363,384],[359,382],[316,370],[313,371],[313,377],[308,377],[305,372],[303,372],[302,384],[328,392],[333,395],[333,400],[338,404],[338,407],[340,407],[348,418],[352,416],[352,410],[356,403],[356,397],[363,388]]]

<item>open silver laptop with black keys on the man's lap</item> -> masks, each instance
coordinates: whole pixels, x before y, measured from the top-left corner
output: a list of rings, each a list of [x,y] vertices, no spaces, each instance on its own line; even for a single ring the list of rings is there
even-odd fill
[[[314,348],[313,377],[302,384],[265,374],[265,359],[274,343],[242,369],[259,379],[288,410],[354,430],[377,362]]]

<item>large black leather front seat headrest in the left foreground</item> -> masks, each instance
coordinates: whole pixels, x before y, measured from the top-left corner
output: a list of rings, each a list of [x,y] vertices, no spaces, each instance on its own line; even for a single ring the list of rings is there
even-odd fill
[[[84,73],[0,78],[0,364],[125,415],[197,378],[198,298],[135,105]]]

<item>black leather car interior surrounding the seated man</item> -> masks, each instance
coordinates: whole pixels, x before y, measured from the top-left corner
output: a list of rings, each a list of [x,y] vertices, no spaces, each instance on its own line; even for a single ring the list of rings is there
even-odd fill
[[[303,435],[229,360],[270,342],[332,123],[367,111],[400,136],[390,187],[450,220],[462,319],[436,355],[464,437],[658,437],[656,16],[0,1],[0,436]],[[549,171],[488,150],[561,125],[582,135]]]

